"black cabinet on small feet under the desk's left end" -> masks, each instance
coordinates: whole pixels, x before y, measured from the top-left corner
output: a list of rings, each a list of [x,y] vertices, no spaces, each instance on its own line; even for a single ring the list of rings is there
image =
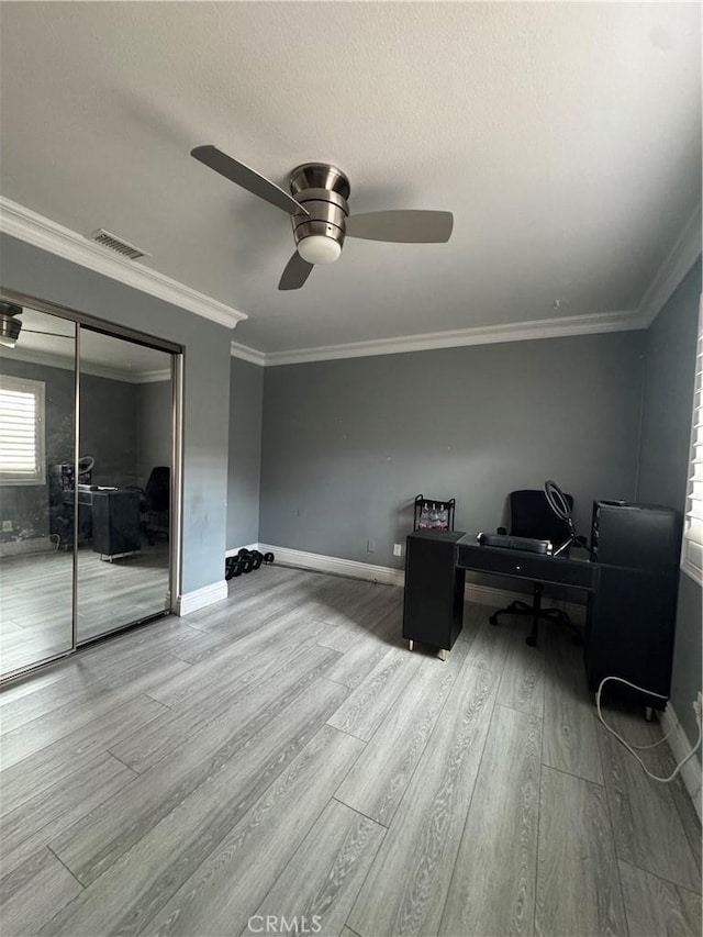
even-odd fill
[[[462,625],[464,570],[457,569],[462,531],[415,531],[405,546],[403,637],[450,650]]]

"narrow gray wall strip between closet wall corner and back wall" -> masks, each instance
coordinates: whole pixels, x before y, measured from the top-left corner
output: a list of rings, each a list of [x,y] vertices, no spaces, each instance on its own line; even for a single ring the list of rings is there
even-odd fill
[[[264,368],[232,359],[227,549],[259,539]]]

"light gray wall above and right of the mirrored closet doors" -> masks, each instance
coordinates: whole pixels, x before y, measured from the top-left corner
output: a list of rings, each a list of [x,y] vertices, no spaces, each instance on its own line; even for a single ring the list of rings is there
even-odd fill
[[[185,346],[182,591],[222,581],[231,330],[8,235],[0,285]]]

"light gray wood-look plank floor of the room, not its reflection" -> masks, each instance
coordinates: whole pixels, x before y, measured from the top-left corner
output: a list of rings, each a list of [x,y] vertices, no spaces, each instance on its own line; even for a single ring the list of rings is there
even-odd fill
[[[700,935],[692,804],[569,634],[467,604],[442,662],[395,587],[230,587],[0,694],[3,937]]]

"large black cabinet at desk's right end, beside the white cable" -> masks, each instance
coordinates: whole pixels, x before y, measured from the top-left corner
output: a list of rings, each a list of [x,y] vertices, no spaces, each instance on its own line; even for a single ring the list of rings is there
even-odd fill
[[[669,695],[680,544],[680,516],[669,507],[594,502],[591,549],[599,579],[585,636],[592,692],[604,677],[621,677]],[[666,706],[666,699],[631,692],[615,682],[603,690],[615,692],[651,709]]]

